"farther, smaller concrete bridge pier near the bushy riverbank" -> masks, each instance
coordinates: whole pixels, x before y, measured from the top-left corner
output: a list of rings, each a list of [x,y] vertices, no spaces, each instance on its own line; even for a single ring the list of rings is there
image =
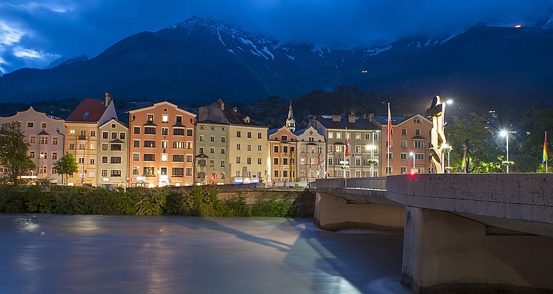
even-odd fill
[[[324,230],[377,228],[401,231],[405,210],[398,206],[348,201],[339,195],[317,193],[314,222]]]

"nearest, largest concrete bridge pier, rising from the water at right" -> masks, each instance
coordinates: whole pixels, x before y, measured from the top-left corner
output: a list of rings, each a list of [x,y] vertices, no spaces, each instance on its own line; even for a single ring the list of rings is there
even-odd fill
[[[415,293],[553,291],[552,237],[407,206],[403,250],[402,284]]]

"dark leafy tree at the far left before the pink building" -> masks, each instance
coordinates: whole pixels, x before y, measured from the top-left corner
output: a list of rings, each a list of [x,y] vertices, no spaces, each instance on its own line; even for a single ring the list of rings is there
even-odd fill
[[[8,173],[3,178],[4,182],[17,184],[20,175],[27,174],[37,167],[27,156],[29,144],[24,139],[25,134],[19,122],[0,124],[0,164],[8,168]]]

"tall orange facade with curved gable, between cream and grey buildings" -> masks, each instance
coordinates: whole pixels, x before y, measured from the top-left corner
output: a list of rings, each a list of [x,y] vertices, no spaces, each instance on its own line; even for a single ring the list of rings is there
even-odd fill
[[[195,122],[167,101],[129,111],[129,186],[193,185]]]

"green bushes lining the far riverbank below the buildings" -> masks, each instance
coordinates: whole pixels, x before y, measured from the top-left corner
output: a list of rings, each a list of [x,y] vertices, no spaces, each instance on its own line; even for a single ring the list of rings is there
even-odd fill
[[[92,215],[187,215],[198,217],[292,217],[293,197],[250,201],[238,192],[218,198],[212,186],[190,189],[71,186],[0,186],[0,213]]]

